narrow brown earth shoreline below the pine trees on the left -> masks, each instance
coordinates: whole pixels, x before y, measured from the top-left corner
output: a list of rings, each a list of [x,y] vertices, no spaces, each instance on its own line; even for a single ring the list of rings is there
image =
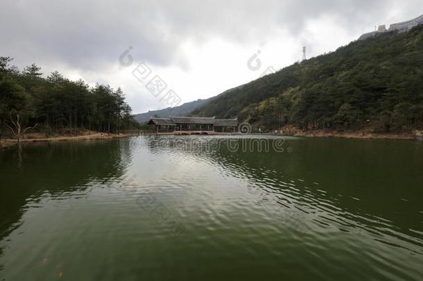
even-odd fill
[[[78,135],[78,136],[62,136],[62,137],[44,137],[38,139],[22,139],[22,144],[33,144],[37,142],[73,142],[73,141],[89,141],[89,140],[102,140],[102,139],[121,139],[129,137],[130,134],[107,134],[96,133],[91,135]],[[17,139],[2,139],[0,143],[0,150],[12,148],[17,146]]]

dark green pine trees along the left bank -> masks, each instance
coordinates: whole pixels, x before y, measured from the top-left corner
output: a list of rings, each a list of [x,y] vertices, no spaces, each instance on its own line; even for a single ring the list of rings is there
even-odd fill
[[[121,89],[108,85],[90,88],[83,80],[71,81],[58,71],[42,78],[33,64],[19,71],[12,59],[0,57],[0,129],[24,133],[37,125],[44,133],[95,130],[116,133],[138,126]]]

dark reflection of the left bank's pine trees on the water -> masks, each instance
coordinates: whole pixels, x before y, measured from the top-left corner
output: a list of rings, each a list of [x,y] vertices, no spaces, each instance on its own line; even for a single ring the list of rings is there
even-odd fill
[[[0,239],[21,225],[30,207],[43,207],[54,198],[78,198],[93,182],[120,178],[128,155],[128,146],[118,142],[35,144],[1,152]]]

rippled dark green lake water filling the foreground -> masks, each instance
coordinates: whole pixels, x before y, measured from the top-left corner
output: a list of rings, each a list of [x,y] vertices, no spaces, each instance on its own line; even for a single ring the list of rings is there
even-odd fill
[[[420,280],[423,144],[133,137],[0,153],[0,280]]]

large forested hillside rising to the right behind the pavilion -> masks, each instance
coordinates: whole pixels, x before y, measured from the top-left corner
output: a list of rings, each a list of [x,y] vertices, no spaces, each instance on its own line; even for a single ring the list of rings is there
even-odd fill
[[[256,128],[391,133],[422,126],[423,26],[352,42],[219,95],[192,112]]]

